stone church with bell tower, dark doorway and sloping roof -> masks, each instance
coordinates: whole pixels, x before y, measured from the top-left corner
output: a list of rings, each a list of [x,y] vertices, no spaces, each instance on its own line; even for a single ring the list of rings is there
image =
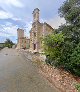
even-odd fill
[[[49,35],[54,29],[47,23],[40,23],[39,21],[39,9],[36,8],[33,11],[33,23],[30,30],[30,51],[42,52],[42,40],[45,36]]]

